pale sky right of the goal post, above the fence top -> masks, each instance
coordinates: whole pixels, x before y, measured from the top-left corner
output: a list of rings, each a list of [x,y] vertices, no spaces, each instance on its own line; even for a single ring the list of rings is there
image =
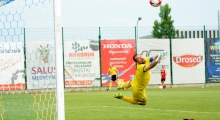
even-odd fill
[[[169,4],[174,26],[218,28],[220,0],[163,0]],[[160,7],[149,0],[61,0],[64,27],[152,27]]]

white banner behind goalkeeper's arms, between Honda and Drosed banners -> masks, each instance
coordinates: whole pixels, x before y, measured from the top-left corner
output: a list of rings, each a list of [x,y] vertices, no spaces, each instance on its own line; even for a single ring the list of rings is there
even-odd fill
[[[155,56],[163,50],[170,50],[170,42],[168,39],[139,39],[137,41],[137,54],[142,56]],[[161,84],[161,74],[162,65],[165,66],[166,70],[166,84],[170,84],[170,54],[166,56],[161,63],[157,64],[151,70],[151,80],[149,84]]]

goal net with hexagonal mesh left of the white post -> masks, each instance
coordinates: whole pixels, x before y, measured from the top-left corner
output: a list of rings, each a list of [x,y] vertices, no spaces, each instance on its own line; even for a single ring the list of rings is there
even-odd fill
[[[54,1],[0,0],[1,120],[58,118]]]

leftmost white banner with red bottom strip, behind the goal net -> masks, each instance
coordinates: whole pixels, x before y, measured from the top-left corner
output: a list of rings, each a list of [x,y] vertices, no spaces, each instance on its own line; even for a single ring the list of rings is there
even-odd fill
[[[0,42],[0,90],[25,89],[22,42]]]

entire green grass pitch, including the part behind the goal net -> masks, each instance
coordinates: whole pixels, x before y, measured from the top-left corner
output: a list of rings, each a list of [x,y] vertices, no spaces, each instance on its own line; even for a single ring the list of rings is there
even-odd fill
[[[220,87],[151,88],[146,106],[113,98],[119,92],[131,96],[130,90],[65,93],[66,120],[220,120]],[[0,119],[53,120],[55,98],[54,93],[1,94]]]

